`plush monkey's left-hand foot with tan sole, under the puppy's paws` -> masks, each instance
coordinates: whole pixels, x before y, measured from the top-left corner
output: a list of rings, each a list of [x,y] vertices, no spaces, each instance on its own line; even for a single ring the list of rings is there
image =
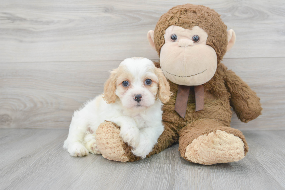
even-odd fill
[[[140,159],[120,137],[120,127],[112,122],[99,125],[96,130],[96,144],[102,156],[108,160],[132,162]]]

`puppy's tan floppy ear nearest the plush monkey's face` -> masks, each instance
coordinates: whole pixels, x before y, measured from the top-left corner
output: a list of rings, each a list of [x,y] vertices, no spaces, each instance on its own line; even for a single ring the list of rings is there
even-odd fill
[[[155,67],[154,69],[159,81],[158,98],[161,100],[161,102],[165,103],[169,100],[170,96],[173,93],[170,92],[169,83],[167,82],[167,79],[165,78],[161,68]]]

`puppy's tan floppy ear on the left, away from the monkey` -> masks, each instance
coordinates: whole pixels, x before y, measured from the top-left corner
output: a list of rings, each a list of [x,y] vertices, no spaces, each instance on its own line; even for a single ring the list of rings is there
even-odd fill
[[[111,71],[110,77],[104,84],[104,93],[102,95],[103,99],[106,101],[107,104],[111,104],[116,101],[117,97],[117,95],[115,94],[116,82],[117,82],[117,70],[113,69],[113,71]]]

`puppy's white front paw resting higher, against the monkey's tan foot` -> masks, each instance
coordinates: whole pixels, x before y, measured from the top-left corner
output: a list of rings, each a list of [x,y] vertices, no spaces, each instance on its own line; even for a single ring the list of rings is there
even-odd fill
[[[140,142],[140,130],[136,127],[121,127],[120,136],[132,147],[138,146]]]

